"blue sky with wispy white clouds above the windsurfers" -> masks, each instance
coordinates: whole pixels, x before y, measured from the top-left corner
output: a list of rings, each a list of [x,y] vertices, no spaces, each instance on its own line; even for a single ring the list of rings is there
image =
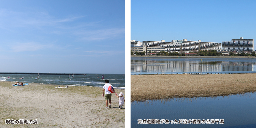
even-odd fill
[[[0,1],[0,72],[125,73],[125,1]]]

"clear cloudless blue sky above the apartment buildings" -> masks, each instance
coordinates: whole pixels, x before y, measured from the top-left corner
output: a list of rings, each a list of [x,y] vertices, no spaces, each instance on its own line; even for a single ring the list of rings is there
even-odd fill
[[[131,40],[255,40],[255,5],[256,1],[131,0]]]

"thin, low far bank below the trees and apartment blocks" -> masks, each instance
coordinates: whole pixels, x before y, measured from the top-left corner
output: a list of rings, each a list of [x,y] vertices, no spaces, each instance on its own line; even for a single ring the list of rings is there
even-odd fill
[[[255,56],[134,56],[131,58],[252,58],[256,59]]]

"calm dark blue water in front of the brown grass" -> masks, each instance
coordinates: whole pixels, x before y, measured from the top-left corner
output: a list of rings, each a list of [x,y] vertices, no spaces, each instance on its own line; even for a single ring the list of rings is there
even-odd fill
[[[256,93],[212,97],[179,98],[169,100],[147,100],[131,103],[132,128],[255,128]],[[223,119],[224,124],[138,124],[138,120],[168,119],[176,120],[216,120]],[[144,122],[145,123],[145,122]],[[146,122],[148,123],[148,122]]]

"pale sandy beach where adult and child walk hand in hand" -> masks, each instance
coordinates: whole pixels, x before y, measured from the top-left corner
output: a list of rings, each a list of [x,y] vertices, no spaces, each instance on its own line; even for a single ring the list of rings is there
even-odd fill
[[[80,128],[125,127],[125,104],[118,109],[112,94],[112,108],[106,109],[103,88],[29,83],[12,86],[0,81],[0,127]],[[115,89],[116,93],[125,90]],[[6,119],[37,120],[37,124],[5,124]]]

